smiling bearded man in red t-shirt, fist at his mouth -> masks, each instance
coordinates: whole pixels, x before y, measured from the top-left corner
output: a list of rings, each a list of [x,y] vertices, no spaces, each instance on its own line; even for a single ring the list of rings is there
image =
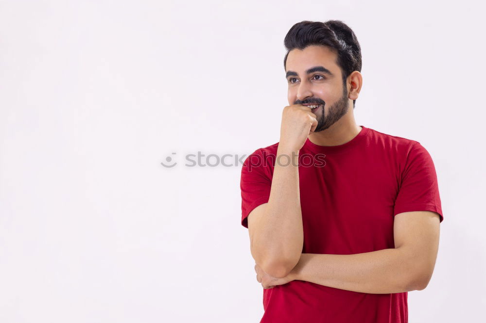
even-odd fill
[[[407,292],[430,281],[443,220],[432,158],[356,124],[361,48],[346,24],[302,21],[284,44],[280,140],[241,176],[260,322],[408,322]]]

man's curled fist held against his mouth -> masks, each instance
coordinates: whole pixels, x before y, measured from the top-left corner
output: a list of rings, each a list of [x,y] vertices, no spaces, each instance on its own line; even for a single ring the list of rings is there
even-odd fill
[[[316,127],[317,116],[312,113],[311,108],[302,104],[286,106],[282,112],[278,145],[292,151],[300,150]]]

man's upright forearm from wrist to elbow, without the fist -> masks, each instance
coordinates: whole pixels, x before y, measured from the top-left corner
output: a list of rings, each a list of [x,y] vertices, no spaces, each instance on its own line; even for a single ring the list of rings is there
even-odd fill
[[[253,245],[264,246],[262,253],[265,255],[263,263],[266,270],[283,277],[299,261],[304,230],[300,208],[298,150],[293,153],[279,146],[276,157],[270,197]],[[289,162],[292,157],[293,162]]]

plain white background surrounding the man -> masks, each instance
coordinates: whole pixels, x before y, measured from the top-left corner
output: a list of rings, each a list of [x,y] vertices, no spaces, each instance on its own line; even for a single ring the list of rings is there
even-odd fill
[[[439,253],[410,322],[480,322],[484,8],[337,2],[0,1],[0,322],[259,322],[241,164],[183,156],[278,142],[285,34],[328,19],[362,47],[358,125],[435,163]]]

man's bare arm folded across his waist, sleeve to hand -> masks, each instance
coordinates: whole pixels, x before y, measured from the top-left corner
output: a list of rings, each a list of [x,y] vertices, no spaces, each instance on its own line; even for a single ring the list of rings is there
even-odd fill
[[[257,279],[272,288],[292,280],[364,293],[423,290],[434,271],[439,244],[439,215],[432,211],[403,212],[394,219],[395,248],[354,255],[301,254],[285,277],[260,269]]]

